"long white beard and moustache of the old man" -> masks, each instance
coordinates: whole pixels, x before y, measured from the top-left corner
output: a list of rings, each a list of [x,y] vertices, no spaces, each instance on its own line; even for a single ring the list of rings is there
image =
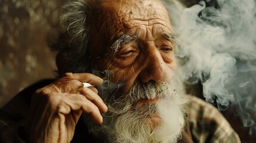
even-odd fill
[[[107,83],[99,89],[101,97],[109,105],[101,126],[91,126],[96,136],[104,133],[109,142],[177,142],[184,128],[183,85],[178,77],[172,83],[135,83],[128,94],[115,95],[116,86]],[[111,89],[112,90],[111,90]],[[109,92],[112,91],[112,92]],[[141,99],[159,97],[157,104],[135,104]],[[162,122],[158,126],[149,124],[150,117],[159,114]]]

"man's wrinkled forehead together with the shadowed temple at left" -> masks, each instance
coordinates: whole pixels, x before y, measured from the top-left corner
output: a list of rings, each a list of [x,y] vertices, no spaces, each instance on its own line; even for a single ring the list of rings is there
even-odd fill
[[[124,33],[135,33],[152,41],[152,35],[157,36],[157,32],[171,33],[168,13],[158,0],[106,0],[92,11],[96,11],[91,17],[94,18],[92,45],[97,43],[97,47],[92,47],[92,57],[107,52],[106,48]],[[148,28],[152,34],[142,31]]]

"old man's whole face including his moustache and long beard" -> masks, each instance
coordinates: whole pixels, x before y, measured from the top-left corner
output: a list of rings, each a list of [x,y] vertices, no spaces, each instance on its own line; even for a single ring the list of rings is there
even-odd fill
[[[112,0],[102,2],[92,11],[93,68],[111,70],[111,82],[122,83],[115,94],[104,85],[98,88],[99,95],[109,105],[109,114],[103,119],[105,133],[115,136],[109,141],[163,141],[159,137],[163,133],[155,137],[152,134],[168,125],[164,138],[170,136],[168,141],[175,142],[184,125],[182,103],[178,99],[181,94],[176,94],[182,91],[178,90],[182,85],[174,76],[177,68],[174,39],[164,6],[157,0]],[[168,100],[163,100],[164,97]],[[164,110],[171,117],[162,119]]]

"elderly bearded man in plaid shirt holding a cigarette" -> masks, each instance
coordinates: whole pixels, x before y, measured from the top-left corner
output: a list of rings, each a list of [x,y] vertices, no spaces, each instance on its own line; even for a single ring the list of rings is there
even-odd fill
[[[35,91],[2,141],[240,142],[217,109],[185,95],[169,16],[158,0],[67,3],[51,44],[63,76]]]

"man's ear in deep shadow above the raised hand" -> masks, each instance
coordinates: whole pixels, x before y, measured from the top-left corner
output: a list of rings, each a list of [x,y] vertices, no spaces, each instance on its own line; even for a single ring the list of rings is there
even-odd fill
[[[63,52],[58,52],[55,58],[55,63],[58,68],[58,76],[63,76],[64,73],[67,73],[67,61],[65,54]]]

